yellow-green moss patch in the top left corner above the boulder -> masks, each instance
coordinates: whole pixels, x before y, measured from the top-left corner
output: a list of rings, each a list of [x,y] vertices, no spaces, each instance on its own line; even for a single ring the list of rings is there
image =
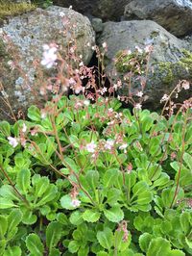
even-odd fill
[[[12,3],[11,1],[0,0],[0,19],[7,16],[19,15],[36,9],[36,5],[27,3]]]

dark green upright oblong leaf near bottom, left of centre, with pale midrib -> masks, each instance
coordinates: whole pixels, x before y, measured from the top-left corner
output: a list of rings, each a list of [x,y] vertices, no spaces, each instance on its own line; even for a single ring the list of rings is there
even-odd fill
[[[49,223],[46,229],[46,244],[49,247],[49,249],[55,247],[59,243],[61,231],[62,226],[60,222],[53,221]]]

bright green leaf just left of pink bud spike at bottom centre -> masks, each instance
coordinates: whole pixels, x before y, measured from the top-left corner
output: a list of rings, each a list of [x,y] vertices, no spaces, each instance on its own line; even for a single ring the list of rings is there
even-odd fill
[[[109,250],[113,244],[112,231],[108,227],[106,227],[104,231],[98,231],[97,240],[105,249]]]

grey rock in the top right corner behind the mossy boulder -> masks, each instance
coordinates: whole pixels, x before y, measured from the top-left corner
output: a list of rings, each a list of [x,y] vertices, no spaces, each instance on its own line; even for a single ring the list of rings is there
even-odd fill
[[[154,20],[176,37],[192,32],[191,0],[132,0],[124,16],[127,20]]]

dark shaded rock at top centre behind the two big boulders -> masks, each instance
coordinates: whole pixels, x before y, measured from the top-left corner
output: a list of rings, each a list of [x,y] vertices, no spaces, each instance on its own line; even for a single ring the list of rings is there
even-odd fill
[[[72,6],[73,9],[85,15],[93,15],[104,21],[121,19],[125,6],[131,0],[54,0],[55,5]]]

